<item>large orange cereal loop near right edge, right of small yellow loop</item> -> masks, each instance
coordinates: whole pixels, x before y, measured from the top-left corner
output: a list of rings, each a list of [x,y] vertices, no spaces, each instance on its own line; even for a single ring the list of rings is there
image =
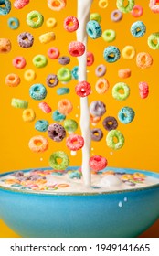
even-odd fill
[[[147,69],[153,64],[152,56],[147,52],[140,52],[136,57],[136,65],[141,69]]]

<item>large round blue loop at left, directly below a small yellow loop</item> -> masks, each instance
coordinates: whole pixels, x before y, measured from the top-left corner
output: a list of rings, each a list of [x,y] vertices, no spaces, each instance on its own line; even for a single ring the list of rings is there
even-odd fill
[[[36,83],[30,87],[29,95],[34,100],[37,100],[37,101],[44,100],[47,96],[47,89],[43,84]]]

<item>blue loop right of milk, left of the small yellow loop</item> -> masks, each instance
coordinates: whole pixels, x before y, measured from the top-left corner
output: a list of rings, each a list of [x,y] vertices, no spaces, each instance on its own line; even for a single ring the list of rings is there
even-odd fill
[[[107,62],[113,63],[113,62],[117,61],[118,59],[120,59],[121,52],[120,52],[119,48],[110,46],[110,47],[107,47],[104,49],[103,57]]]

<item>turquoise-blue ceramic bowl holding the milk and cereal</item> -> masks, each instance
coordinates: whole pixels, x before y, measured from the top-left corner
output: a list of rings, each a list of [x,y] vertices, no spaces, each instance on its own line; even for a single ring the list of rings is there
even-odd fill
[[[45,169],[49,168],[41,168]],[[111,170],[140,172],[159,178],[159,174],[147,171]],[[119,202],[122,202],[122,207],[119,207]],[[22,237],[136,237],[159,217],[159,183],[93,195],[48,195],[0,187],[0,217]]]

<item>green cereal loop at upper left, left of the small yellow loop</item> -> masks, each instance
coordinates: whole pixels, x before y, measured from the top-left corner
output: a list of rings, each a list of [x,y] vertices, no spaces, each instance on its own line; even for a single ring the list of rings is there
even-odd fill
[[[36,20],[34,20],[36,19]],[[44,22],[44,17],[37,11],[32,11],[26,16],[26,24],[32,28],[41,27]]]

